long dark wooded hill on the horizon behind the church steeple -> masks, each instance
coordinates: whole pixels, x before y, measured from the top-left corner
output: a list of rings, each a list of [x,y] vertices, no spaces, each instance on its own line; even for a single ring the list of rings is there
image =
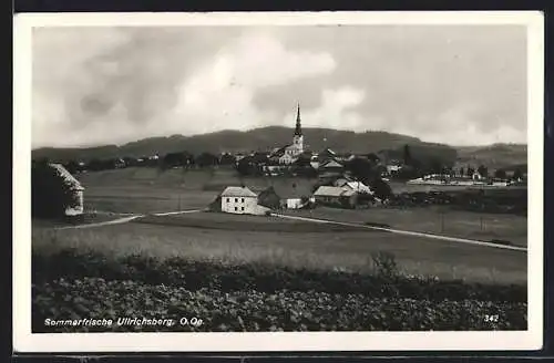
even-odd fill
[[[32,152],[33,158],[48,157],[60,162],[69,159],[112,158],[144,155],[161,155],[188,151],[193,154],[202,152],[252,152],[268,151],[291,142],[294,129],[280,126],[256,128],[248,132],[222,131],[217,133],[170,137],[151,137],[121,146],[106,145],[91,148],[39,148]],[[419,138],[390,134],[386,132],[355,133],[328,128],[305,128],[306,147],[320,151],[329,147],[338,153],[377,153],[383,149],[401,148],[406,144],[419,148],[435,149],[438,154],[452,148],[445,145],[423,143]],[[453,154],[455,155],[455,154]]]

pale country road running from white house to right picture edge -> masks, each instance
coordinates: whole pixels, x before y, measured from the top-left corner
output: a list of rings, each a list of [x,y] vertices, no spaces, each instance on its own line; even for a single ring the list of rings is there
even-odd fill
[[[485,242],[485,241],[473,240],[473,239],[416,232],[416,231],[410,231],[410,230],[401,230],[401,229],[393,229],[393,228],[386,228],[386,227],[375,227],[375,226],[368,226],[368,225],[361,225],[361,224],[349,224],[349,222],[326,220],[326,219],[318,219],[318,218],[286,216],[286,215],[279,215],[279,214],[271,214],[271,216],[279,217],[279,218],[287,218],[287,219],[306,220],[306,221],[312,221],[312,222],[318,222],[318,224],[335,224],[338,226],[361,227],[361,228],[367,228],[367,229],[372,229],[372,230],[381,230],[381,231],[387,231],[387,232],[392,232],[392,234],[398,234],[398,235],[404,235],[404,236],[423,237],[423,238],[438,239],[438,240],[450,241],[450,242],[507,249],[507,250],[514,250],[514,251],[520,251],[520,252],[527,251],[527,249],[525,247],[506,246],[506,245],[492,243],[492,242]]]

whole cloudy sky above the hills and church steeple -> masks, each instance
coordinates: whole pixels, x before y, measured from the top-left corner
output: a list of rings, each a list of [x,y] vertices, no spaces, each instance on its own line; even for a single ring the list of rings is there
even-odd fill
[[[523,25],[34,28],[32,145],[269,125],[526,143]]]

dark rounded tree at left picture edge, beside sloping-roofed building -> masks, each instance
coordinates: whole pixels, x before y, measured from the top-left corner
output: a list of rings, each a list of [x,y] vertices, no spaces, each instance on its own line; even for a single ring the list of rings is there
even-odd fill
[[[31,168],[31,214],[37,218],[60,218],[79,204],[76,195],[58,170],[48,163]]]

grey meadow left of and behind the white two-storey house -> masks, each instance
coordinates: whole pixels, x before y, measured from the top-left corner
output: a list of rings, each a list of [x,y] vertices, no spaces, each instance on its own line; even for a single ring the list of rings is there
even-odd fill
[[[253,189],[273,184],[309,184],[301,178],[243,178],[228,168],[211,170],[125,168],[78,175],[85,189],[85,208],[115,212],[162,212],[205,208],[227,186]]]

